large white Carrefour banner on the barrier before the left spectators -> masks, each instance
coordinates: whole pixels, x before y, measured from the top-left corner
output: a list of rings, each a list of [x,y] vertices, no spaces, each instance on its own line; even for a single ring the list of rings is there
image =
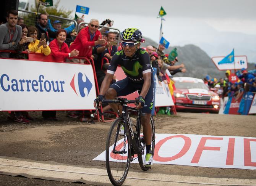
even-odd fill
[[[94,109],[92,66],[0,59],[0,111]]]

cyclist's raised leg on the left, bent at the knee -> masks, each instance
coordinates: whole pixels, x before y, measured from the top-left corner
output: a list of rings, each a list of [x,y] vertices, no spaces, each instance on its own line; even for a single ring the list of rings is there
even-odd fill
[[[106,99],[115,99],[119,96],[126,96],[133,93],[136,89],[132,86],[129,79],[126,77],[123,80],[117,81],[110,85],[109,90],[105,93]],[[122,112],[122,107],[118,104],[109,104],[113,111],[117,112],[119,110],[120,114]],[[119,106],[119,107],[118,107]]]

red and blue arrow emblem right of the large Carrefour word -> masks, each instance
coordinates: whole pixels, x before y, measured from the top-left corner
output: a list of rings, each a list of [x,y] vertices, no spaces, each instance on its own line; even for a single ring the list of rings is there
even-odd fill
[[[75,83],[75,82],[78,82],[78,83]],[[78,86],[76,84],[78,84]],[[92,83],[85,74],[84,74],[84,80],[83,80],[83,73],[79,72],[77,77],[76,77],[76,74],[74,74],[70,82],[70,86],[73,88],[77,96],[78,96],[78,93],[77,93],[77,89],[78,89],[80,96],[85,97],[86,94],[84,93],[84,89],[86,88],[87,96],[88,96],[92,88]]]

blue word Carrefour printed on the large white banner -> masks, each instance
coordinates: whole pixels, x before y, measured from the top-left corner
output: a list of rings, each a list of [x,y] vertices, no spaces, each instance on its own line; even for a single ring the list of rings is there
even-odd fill
[[[46,91],[46,92],[64,92],[63,85],[65,81],[45,80],[44,75],[39,75],[38,79],[11,79],[9,75],[2,74],[0,85],[3,91]]]

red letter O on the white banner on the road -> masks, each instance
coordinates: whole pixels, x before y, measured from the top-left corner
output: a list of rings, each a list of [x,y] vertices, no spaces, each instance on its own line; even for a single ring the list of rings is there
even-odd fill
[[[167,140],[172,139],[172,138],[183,138],[185,143],[183,148],[181,149],[181,151],[172,156],[172,157],[161,157],[159,156],[158,152],[160,147],[162,146],[162,144],[164,144]],[[154,153],[154,160],[159,161],[159,162],[169,162],[175,159],[180,158],[181,156],[183,156],[184,154],[186,154],[186,152],[188,152],[188,149],[190,149],[191,146],[191,139],[187,136],[183,136],[183,135],[176,135],[176,136],[169,136],[167,138],[164,138],[162,140],[160,140],[156,146],[155,146],[155,153]]]

